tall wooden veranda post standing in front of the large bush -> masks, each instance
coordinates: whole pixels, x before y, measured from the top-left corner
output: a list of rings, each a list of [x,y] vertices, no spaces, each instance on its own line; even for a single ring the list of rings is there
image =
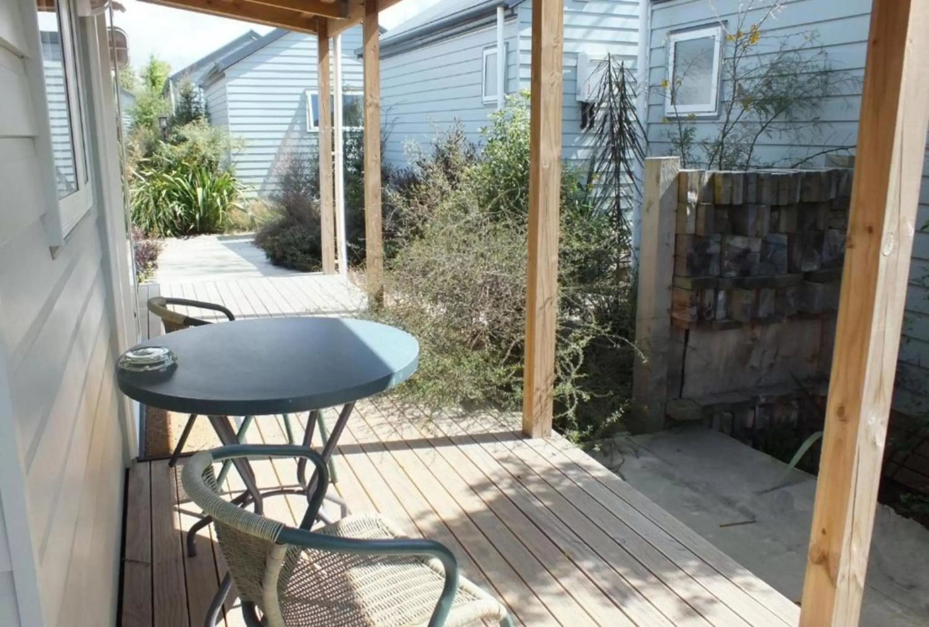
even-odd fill
[[[523,433],[552,433],[561,190],[562,0],[532,3],[529,284]]]

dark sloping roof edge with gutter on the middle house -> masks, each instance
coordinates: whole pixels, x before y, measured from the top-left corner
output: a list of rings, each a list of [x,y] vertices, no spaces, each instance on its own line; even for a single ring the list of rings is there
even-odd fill
[[[407,27],[400,24],[381,40],[381,59],[394,57],[410,50],[428,46],[455,35],[475,31],[496,22],[497,7],[504,7],[507,18],[515,13],[524,0],[464,0],[459,3],[439,3],[437,15],[417,16],[418,22]],[[409,23],[409,22],[408,22]],[[356,50],[361,56],[361,50]]]

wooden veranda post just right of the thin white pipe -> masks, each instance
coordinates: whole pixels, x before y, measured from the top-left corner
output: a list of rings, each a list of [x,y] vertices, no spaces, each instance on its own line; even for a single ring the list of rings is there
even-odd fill
[[[377,2],[364,3],[364,240],[366,282],[373,302],[384,300],[381,232],[381,68]]]

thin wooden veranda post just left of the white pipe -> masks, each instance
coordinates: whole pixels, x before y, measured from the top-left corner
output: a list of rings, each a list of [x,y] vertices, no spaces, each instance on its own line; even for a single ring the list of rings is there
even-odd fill
[[[320,101],[320,226],[322,238],[322,272],[335,273],[335,205],[333,197],[333,111],[329,81],[329,35],[326,22],[320,20],[317,67]]]

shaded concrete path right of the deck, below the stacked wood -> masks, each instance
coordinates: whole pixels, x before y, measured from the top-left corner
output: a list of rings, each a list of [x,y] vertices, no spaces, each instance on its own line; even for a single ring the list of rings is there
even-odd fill
[[[799,602],[816,477],[709,429],[623,439],[604,464],[726,555]],[[929,625],[929,529],[879,505],[861,627]]]

